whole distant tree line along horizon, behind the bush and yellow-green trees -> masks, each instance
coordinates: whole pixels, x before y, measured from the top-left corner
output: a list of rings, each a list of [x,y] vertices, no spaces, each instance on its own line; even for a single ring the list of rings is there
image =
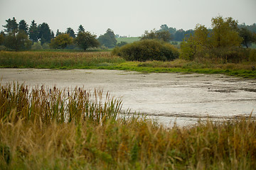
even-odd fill
[[[222,17],[219,16],[219,18]],[[252,42],[256,41],[256,24],[254,23],[252,26],[246,26],[245,23],[238,25],[238,21],[233,20],[233,18],[229,18],[229,20],[233,22],[235,31],[242,38],[241,44],[245,47],[250,47]],[[213,35],[215,31],[214,28],[203,29],[207,31],[207,37]],[[164,24],[161,25],[159,30],[146,30],[141,36],[141,40],[158,39],[165,42],[186,40],[189,42],[191,41],[191,36],[193,37],[196,34],[196,30],[198,30],[197,27],[194,30],[177,30]],[[220,33],[225,34],[225,29],[220,30]],[[50,30],[48,23],[37,24],[33,20],[31,25],[28,26],[24,20],[17,23],[16,18],[9,18],[6,20],[4,30],[0,33],[0,45],[13,50],[30,50],[31,47],[38,50],[42,47],[87,50],[89,47],[112,48],[127,44],[126,42],[117,44],[116,36],[114,31],[109,28],[104,35],[100,35],[97,38],[97,35],[85,31],[82,25],[78,27],[77,33],[73,28],[67,28],[65,33],[57,30],[56,34],[54,34],[53,30]]]

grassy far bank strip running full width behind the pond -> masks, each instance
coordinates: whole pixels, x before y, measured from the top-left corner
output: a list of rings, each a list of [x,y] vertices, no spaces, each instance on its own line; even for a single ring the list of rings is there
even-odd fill
[[[185,72],[226,74],[256,78],[255,62],[213,63],[176,59],[173,61],[136,62],[111,52],[0,52],[1,68],[38,69],[119,69],[136,72]]]

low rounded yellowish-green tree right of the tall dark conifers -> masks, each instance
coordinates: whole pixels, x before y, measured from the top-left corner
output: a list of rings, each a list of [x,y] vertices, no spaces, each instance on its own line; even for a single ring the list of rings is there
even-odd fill
[[[62,48],[64,49],[67,45],[71,45],[73,43],[73,38],[68,34],[60,34],[56,38],[51,39],[50,47],[52,48]]]

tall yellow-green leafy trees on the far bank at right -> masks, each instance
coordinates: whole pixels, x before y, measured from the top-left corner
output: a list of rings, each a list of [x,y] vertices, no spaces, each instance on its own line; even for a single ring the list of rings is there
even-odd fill
[[[218,16],[212,18],[213,30],[197,25],[194,34],[181,43],[181,58],[185,60],[217,60],[242,62],[248,53],[240,49],[242,38],[238,33],[238,21]]]

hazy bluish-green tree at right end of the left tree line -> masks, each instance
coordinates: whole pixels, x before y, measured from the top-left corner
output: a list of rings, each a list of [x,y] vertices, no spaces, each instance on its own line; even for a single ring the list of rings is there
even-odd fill
[[[117,39],[115,38],[114,31],[110,28],[107,29],[104,35],[100,35],[98,40],[101,45],[105,45],[108,48],[112,48],[117,45]]]

